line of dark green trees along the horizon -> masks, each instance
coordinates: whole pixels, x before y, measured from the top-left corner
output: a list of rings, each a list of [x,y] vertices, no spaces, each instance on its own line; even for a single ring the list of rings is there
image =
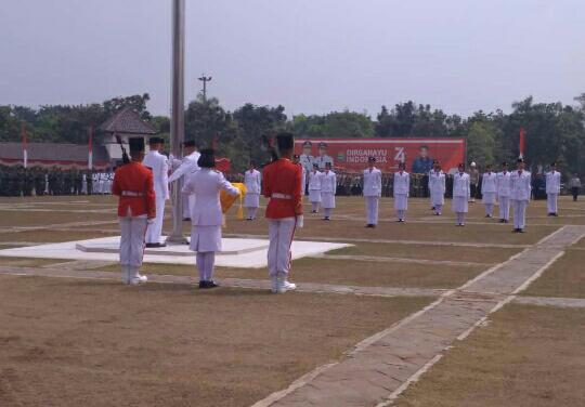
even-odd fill
[[[131,106],[168,139],[166,116],[147,110],[147,93],[115,97],[88,105],[27,106],[0,105],[0,142],[21,140],[21,123],[30,142],[88,143],[88,128],[98,127],[123,107]],[[214,145],[236,170],[249,160],[263,162],[269,155],[262,135],[281,130],[299,137],[467,137],[468,161],[479,165],[514,161],[518,157],[520,128],[526,131],[525,157],[533,166],[557,161],[566,171],[585,173],[585,93],[574,105],[535,103],[526,97],[511,105],[509,114],[476,111],[469,117],[447,115],[428,104],[408,101],[391,108],[381,106],[375,118],[366,113],[332,111],[325,115],[288,117],[285,107],[247,103],[233,111],[219,100],[200,95],[185,109],[185,137],[203,146]],[[99,140],[99,135],[98,135]]]

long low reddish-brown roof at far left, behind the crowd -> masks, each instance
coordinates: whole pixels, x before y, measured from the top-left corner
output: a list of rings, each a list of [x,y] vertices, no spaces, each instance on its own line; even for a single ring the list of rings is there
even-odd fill
[[[28,143],[28,161],[75,161],[86,162],[88,160],[87,144],[60,144],[60,143]],[[0,143],[0,160],[22,160],[22,143]],[[109,157],[104,146],[93,146],[93,161],[108,162]]]

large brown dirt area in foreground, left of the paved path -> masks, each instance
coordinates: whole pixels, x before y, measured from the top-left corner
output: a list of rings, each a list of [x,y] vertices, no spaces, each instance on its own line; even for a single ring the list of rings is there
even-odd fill
[[[0,276],[0,405],[249,406],[429,301]]]

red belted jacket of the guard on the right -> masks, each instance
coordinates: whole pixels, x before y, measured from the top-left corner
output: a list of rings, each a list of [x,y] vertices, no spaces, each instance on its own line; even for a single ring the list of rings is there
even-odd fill
[[[262,194],[270,198],[268,219],[291,218],[302,214],[302,168],[286,158],[281,158],[262,172]],[[274,197],[273,195],[277,196]]]

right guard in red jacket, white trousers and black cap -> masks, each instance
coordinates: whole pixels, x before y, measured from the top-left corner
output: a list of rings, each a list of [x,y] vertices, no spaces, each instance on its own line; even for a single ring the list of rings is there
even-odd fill
[[[302,219],[302,169],[290,161],[295,147],[291,133],[276,136],[280,158],[264,167],[262,194],[269,199],[270,246],[268,251],[272,292],[286,292],[297,288],[288,281],[290,246],[298,220]]]

